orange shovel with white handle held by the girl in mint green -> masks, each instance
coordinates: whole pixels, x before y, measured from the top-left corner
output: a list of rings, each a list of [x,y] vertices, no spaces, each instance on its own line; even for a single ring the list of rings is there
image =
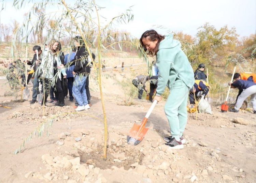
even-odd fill
[[[137,145],[142,141],[144,136],[146,135],[148,128],[145,128],[145,124],[147,122],[148,117],[150,116],[151,112],[153,111],[157,100],[154,100],[153,104],[151,105],[150,109],[147,111],[146,116],[144,117],[141,125],[133,124],[129,134],[127,135],[127,143],[132,145]]]

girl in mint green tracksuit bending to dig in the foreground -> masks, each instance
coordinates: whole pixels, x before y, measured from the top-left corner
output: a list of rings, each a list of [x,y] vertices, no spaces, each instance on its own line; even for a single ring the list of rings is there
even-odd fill
[[[144,32],[140,39],[141,47],[150,56],[156,55],[158,83],[153,100],[162,100],[167,86],[170,94],[164,110],[168,119],[171,136],[165,137],[166,145],[172,149],[183,149],[182,135],[187,123],[187,97],[194,85],[194,72],[187,56],[181,50],[181,43],[173,40],[173,35],[160,35],[155,30]]]

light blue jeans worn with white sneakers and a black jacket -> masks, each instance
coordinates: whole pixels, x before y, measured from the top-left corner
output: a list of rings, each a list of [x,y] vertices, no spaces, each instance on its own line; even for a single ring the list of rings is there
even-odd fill
[[[86,78],[86,76],[76,76],[73,83],[72,92],[79,106],[88,104],[85,90]]]

